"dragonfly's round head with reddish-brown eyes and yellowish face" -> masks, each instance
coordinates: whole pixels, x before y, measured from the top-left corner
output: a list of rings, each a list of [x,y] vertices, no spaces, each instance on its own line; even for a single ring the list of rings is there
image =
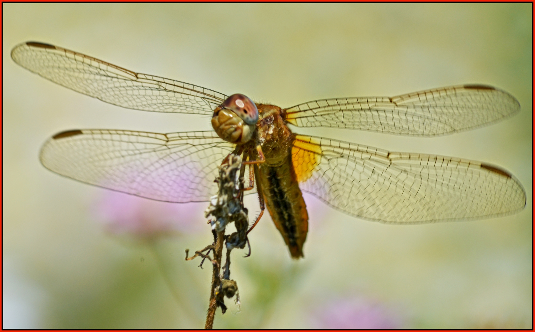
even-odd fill
[[[247,96],[235,94],[213,111],[212,127],[223,140],[242,144],[253,137],[257,121],[255,103]]]

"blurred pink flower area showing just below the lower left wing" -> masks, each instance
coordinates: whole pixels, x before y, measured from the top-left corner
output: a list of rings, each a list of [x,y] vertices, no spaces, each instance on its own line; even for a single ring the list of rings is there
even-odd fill
[[[93,205],[94,217],[114,235],[154,238],[208,231],[203,218],[207,203],[167,203],[103,190]],[[204,226],[204,227],[203,227]]]

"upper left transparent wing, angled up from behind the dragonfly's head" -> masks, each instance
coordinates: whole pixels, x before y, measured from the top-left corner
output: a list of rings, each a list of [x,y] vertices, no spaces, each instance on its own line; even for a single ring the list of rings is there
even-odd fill
[[[57,46],[27,42],[13,60],[66,88],[127,109],[212,115],[227,96],[207,88],[135,73]]]

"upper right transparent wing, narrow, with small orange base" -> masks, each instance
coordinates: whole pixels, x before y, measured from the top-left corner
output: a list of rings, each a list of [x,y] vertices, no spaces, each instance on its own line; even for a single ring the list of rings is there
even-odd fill
[[[505,91],[465,84],[395,97],[322,99],[286,109],[297,127],[332,127],[438,136],[470,130],[513,115],[520,104]]]

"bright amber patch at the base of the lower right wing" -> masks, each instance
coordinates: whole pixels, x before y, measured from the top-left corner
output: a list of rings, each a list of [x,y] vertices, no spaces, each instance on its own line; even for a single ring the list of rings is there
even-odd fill
[[[296,135],[292,147],[292,164],[294,166],[297,182],[310,179],[314,169],[319,165],[322,148],[310,136]]]

